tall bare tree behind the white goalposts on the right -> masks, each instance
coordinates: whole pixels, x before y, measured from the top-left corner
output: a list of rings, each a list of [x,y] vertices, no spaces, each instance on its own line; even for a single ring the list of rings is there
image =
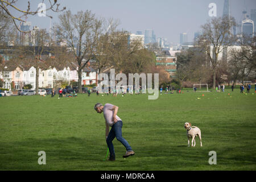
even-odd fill
[[[234,18],[223,16],[208,20],[201,28],[203,33],[199,36],[197,46],[207,54],[213,71],[213,88],[216,86],[216,71],[220,52],[231,46],[235,38],[232,35],[232,27],[236,25]],[[213,47],[211,50],[210,47]]]

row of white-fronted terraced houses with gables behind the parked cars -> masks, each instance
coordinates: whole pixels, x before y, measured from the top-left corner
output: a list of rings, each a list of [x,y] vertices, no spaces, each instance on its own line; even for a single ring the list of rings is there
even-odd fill
[[[77,65],[56,65],[51,68],[39,68],[39,88],[53,88],[56,81],[78,81]],[[92,67],[82,69],[82,85],[96,83],[97,71]],[[0,79],[4,82],[3,88],[18,90],[24,85],[31,84],[36,87],[36,68],[26,64],[14,64],[6,61],[0,71]]]

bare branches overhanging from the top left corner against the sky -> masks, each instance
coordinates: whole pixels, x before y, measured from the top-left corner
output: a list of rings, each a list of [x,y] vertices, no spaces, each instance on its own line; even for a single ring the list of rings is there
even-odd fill
[[[62,9],[59,9],[60,4],[57,3],[57,0],[48,0],[49,7],[46,8],[45,10],[38,7],[36,10],[31,9],[30,5],[30,0],[27,2],[27,10],[21,10],[18,6],[16,6],[16,3],[18,3],[19,0],[0,0],[0,14],[11,18],[13,20],[13,23],[15,27],[20,31],[18,24],[19,22],[26,22],[26,17],[27,15],[35,15],[38,13],[42,13],[43,11],[53,11],[53,12],[59,12],[65,10],[65,7]],[[20,0],[21,1],[21,0]],[[42,3],[44,3],[44,0],[42,0]],[[15,16],[14,14],[11,13],[11,10],[16,11],[16,13],[19,13],[20,16]],[[46,15],[49,18],[52,18],[52,16]]]

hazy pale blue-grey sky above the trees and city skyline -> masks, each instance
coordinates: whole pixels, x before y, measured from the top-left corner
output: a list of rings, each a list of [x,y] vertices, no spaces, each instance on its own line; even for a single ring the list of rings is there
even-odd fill
[[[36,10],[42,0],[33,0],[31,9]],[[48,0],[44,1],[48,7]],[[236,20],[241,20],[242,10],[246,8],[250,15],[256,9],[256,0],[230,0],[230,11]],[[58,0],[61,7],[65,6],[76,14],[80,10],[92,10],[99,17],[119,19],[123,28],[132,33],[152,29],[156,37],[167,38],[168,42],[179,42],[179,34],[187,32],[188,41],[192,41],[194,33],[210,19],[209,3],[216,3],[217,16],[222,15],[224,0]],[[27,0],[19,0],[17,6],[27,9]],[[11,11],[14,12],[14,11]],[[59,13],[47,11],[58,22]],[[16,14],[17,15],[17,14]],[[38,15],[28,16],[32,26],[49,29],[50,18]]]

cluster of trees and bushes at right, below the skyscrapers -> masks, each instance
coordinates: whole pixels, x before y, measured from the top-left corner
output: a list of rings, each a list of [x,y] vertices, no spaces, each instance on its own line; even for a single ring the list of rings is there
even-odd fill
[[[233,35],[236,26],[229,16],[208,20],[194,47],[177,55],[177,78],[183,86],[193,83],[216,84],[256,79],[255,36]],[[222,57],[220,57],[222,54]]]

